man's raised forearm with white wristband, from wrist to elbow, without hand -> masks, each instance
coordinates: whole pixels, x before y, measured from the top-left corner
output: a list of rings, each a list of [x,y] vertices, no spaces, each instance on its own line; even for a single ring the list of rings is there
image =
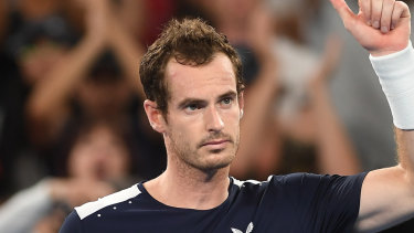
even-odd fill
[[[408,45],[386,56],[370,56],[388,98],[393,121],[399,161],[407,174],[414,173],[414,50]]]

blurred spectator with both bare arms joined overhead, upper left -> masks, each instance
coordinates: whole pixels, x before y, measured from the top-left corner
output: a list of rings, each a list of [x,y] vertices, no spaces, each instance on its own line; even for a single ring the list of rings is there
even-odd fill
[[[60,141],[64,141],[66,130],[77,127],[79,120],[121,119],[135,129],[138,147],[145,148],[139,155],[145,157],[145,166],[139,171],[144,177],[155,176],[162,167],[157,157],[162,152],[147,153],[153,142],[142,144],[140,139],[158,138],[152,136],[155,133],[147,134],[148,124],[138,121],[137,100],[144,98],[144,93],[137,81],[137,64],[142,49],[127,33],[109,1],[79,4],[87,13],[85,35],[61,60],[54,61],[45,81],[39,82],[31,93],[26,108],[31,139],[46,150],[50,160]]]

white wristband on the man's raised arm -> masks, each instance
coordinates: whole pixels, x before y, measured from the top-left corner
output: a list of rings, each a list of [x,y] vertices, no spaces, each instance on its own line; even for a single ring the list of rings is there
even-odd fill
[[[380,78],[394,125],[400,129],[414,129],[414,50],[408,45],[385,56],[370,55]]]

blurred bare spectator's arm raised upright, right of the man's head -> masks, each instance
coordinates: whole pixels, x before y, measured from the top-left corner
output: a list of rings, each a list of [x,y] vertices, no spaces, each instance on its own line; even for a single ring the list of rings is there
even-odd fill
[[[361,168],[347,130],[331,104],[328,88],[328,80],[339,63],[341,43],[338,36],[331,35],[328,39],[320,65],[310,78],[309,94],[316,127],[318,171],[346,176],[355,174]]]

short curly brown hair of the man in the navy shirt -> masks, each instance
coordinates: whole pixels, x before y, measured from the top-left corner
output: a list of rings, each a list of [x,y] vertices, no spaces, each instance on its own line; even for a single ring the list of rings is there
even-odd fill
[[[174,57],[180,64],[198,66],[211,62],[217,52],[224,53],[232,62],[237,93],[242,92],[244,88],[242,63],[226,36],[217,33],[200,19],[171,20],[160,38],[148,47],[139,67],[147,98],[156,102],[158,108],[166,115],[170,98],[164,82],[168,61]]]

